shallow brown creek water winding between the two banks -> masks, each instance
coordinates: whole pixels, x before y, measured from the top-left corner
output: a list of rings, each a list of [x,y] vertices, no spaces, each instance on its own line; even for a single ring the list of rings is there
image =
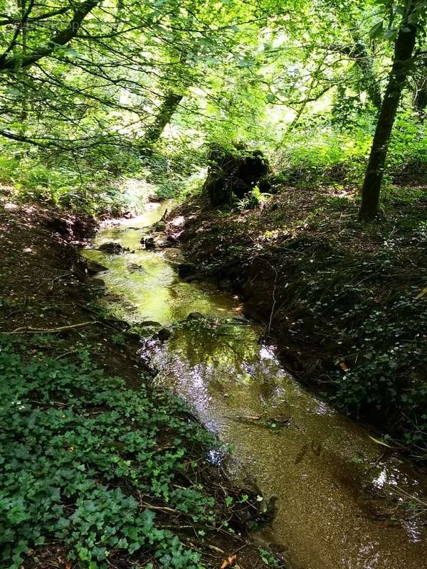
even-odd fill
[[[139,218],[106,225],[85,255],[108,267],[102,302],[117,317],[172,329],[168,341],[145,341],[142,351],[159,369],[156,381],[233,445],[231,477],[246,472],[266,497],[277,496],[277,516],[255,540],[281,546],[292,569],[426,569],[420,516],[393,521],[397,493],[426,496],[426,477],[302,388],[259,343],[260,328],[239,316],[237,297],[180,280],[178,250],[142,249],[166,208],[149,204]],[[108,241],[130,252],[96,250]],[[184,322],[190,312],[211,321]]]

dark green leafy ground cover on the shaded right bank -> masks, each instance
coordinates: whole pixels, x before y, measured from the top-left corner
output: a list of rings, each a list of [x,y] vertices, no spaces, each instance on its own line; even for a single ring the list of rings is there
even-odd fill
[[[318,331],[337,339],[339,371],[322,374],[332,386],[328,396],[350,415],[392,425],[421,460],[427,459],[427,295],[420,296],[420,285],[406,285],[399,262],[408,240],[420,256],[424,225],[416,225],[411,236],[388,238],[370,255],[349,257],[330,244],[300,301]],[[426,270],[421,258],[418,263],[413,271],[423,282]],[[394,286],[399,271],[400,289]]]

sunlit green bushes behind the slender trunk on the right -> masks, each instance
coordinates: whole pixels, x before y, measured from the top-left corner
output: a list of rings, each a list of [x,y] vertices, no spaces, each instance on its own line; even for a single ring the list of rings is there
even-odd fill
[[[374,123],[359,117],[351,129],[338,129],[320,119],[292,131],[273,156],[275,171],[284,184],[322,184],[338,181],[360,184],[367,166]],[[401,110],[391,137],[386,181],[401,180],[411,165],[427,173],[427,124],[411,110]],[[415,171],[414,174],[418,174]],[[411,174],[411,171],[408,171]],[[424,177],[421,177],[424,181]]]

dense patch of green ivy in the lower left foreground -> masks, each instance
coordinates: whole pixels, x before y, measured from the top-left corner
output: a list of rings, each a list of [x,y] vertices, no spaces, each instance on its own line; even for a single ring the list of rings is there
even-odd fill
[[[214,437],[147,378],[130,390],[87,349],[46,355],[54,342],[0,336],[1,567],[40,566],[58,545],[90,569],[204,566],[194,543],[228,528],[204,482]]]

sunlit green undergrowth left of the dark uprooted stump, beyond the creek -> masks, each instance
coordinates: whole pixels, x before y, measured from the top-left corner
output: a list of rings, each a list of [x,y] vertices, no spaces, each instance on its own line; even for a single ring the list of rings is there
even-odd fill
[[[61,154],[58,151],[0,147],[0,183],[8,184],[14,199],[36,202],[95,218],[137,214],[149,198],[183,195],[199,186],[198,153],[159,151],[150,156],[136,149],[112,154]]]

